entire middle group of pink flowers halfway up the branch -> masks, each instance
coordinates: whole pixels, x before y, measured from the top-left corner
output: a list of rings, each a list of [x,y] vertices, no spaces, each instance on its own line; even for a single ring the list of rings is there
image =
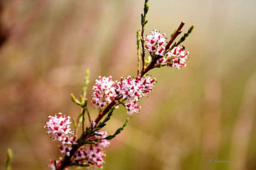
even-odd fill
[[[96,85],[93,86],[92,104],[94,108],[99,107],[103,109],[107,104],[114,100],[114,98],[122,97],[127,99],[125,107],[127,113],[131,116],[133,112],[138,113],[140,107],[136,103],[139,98],[148,95],[149,92],[153,91],[155,79],[151,79],[150,76],[139,78],[127,78],[121,77],[120,82],[112,81],[112,77],[101,77],[99,80],[95,80]]]

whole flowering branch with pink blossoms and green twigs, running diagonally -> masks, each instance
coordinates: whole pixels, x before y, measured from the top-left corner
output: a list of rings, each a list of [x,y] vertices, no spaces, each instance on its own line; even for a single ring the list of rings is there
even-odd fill
[[[174,43],[172,48],[170,45],[174,42],[176,37],[182,32],[184,22],[181,22],[177,30],[172,34],[172,38],[167,43],[164,38],[165,33],[161,34],[160,30],[151,30],[150,35],[144,37],[145,25],[148,22],[146,20],[146,14],[148,12],[148,0],[144,3],[144,14],[142,13],[141,24],[142,29],[137,31],[137,55],[138,55],[138,69],[137,77],[134,78],[128,76],[127,78],[121,77],[121,80],[112,81],[112,77],[101,77],[95,80],[93,86],[93,94],[91,95],[91,103],[94,108],[98,108],[98,116],[94,121],[91,120],[89,109],[87,108],[86,91],[89,84],[89,71],[87,70],[84,77],[84,85],[80,101],[71,94],[72,101],[79,105],[81,108],[77,123],[74,121],[75,131],[71,131],[69,116],[49,116],[49,121],[46,122],[45,128],[48,129],[47,134],[53,134],[53,140],[59,140],[62,146],[59,146],[60,152],[65,154],[64,158],[51,161],[51,167],[53,170],[67,170],[68,166],[80,166],[93,168],[100,167],[105,163],[103,157],[105,152],[103,148],[108,148],[110,140],[116,137],[128,123],[128,118],[124,122],[123,126],[118,128],[113,135],[108,135],[103,131],[108,120],[114,113],[114,109],[119,104],[123,105],[127,109],[127,114],[132,116],[134,112],[138,113],[141,108],[138,105],[139,99],[143,96],[147,96],[154,90],[155,78],[151,79],[148,76],[148,72],[156,67],[180,67],[186,66],[185,62],[188,60],[188,51],[185,51],[185,46],[178,46],[183,42],[186,37],[192,32],[194,26],[189,28],[189,31],[182,36],[182,38]],[[141,38],[140,38],[141,35]],[[141,43],[140,43],[141,42]],[[146,43],[146,45],[144,45]],[[167,44],[165,47],[164,45]],[[140,45],[142,45],[142,69],[140,70]],[[145,54],[150,54],[148,60],[145,61]],[[120,101],[121,100],[121,101]],[[89,119],[89,125],[84,129],[85,112]],[[103,121],[101,119],[108,113]],[[82,124],[82,134],[77,139],[78,129]],[[73,137],[71,135],[74,135]]]

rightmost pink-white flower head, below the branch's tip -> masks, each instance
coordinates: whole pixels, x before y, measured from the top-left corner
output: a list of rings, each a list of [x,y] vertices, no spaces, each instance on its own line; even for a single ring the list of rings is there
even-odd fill
[[[185,51],[184,46],[174,47],[167,53],[168,57],[170,57],[170,61],[167,62],[167,66],[176,66],[177,69],[180,70],[181,66],[186,66],[185,62],[188,60],[187,54],[189,54],[189,52]]]

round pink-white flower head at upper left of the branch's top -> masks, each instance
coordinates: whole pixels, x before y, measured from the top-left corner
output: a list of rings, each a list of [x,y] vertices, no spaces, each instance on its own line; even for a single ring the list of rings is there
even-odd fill
[[[164,55],[163,52],[165,52],[165,47],[163,45],[166,44],[166,38],[163,36],[165,36],[165,33],[160,34],[160,30],[151,30],[150,35],[146,35],[146,38],[144,39],[147,43],[145,46],[147,51],[157,55]]]

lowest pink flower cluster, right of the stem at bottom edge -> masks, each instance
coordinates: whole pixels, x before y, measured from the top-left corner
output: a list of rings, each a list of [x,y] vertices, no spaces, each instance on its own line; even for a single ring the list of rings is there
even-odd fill
[[[109,147],[109,140],[103,139],[108,136],[107,132],[105,131],[98,131],[97,134],[100,134],[102,136],[93,136],[90,138],[90,140],[94,139],[102,139],[98,142],[95,142],[95,144],[91,144],[90,147],[80,147],[78,151],[76,151],[74,157],[75,157],[75,163],[82,164],[82,163],[90,163],[93,168],[100,167],[102,168],[102,164],[105,163],[103,161],[103,157],[105,157],[105,153],[102,151],[103,148]]]

